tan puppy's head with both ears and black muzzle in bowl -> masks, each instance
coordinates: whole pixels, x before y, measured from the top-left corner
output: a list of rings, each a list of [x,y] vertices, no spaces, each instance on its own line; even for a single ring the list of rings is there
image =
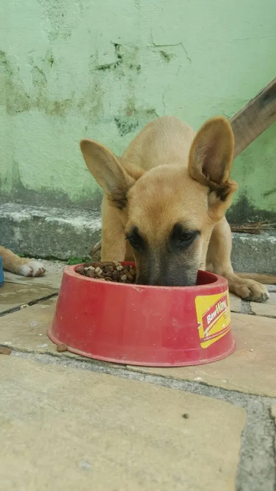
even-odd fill
[[[115,155],[81,141],[85,162],[117,208],[133,250],[137,282],[194,285],[214,224],[224,217],[237,184],[229,177],[234,137],[223,117],[195,136],[188,167],[162,165],[125,170]]]

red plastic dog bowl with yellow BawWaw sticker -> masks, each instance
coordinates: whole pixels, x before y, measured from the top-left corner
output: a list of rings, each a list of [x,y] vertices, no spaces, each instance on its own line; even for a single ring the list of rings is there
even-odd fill
[[[131,365],[185,366],[235,350],[225,278],[199,271],[197,286],[146,286],[99,281],[76,267],[64,270],[48,330],[69,351]]]

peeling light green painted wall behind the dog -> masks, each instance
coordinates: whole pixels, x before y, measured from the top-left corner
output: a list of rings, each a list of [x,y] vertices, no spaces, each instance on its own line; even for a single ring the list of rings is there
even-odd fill
[[[275,75],[275,0],[2,1],[1,194],[98,207],[81,137],[120,154],[154,117],[199,128]],[[233,177],[232,221],[276,216],[275,125],[236,159]]]

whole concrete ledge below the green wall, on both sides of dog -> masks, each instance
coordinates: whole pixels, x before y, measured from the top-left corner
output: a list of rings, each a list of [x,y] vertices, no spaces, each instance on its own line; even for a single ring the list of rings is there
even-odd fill
[[[100,213],[0,204],[0,243],[41,258],[85,257],[100,240]],[[276,274],[276,232],[233,233],[235,271]]]

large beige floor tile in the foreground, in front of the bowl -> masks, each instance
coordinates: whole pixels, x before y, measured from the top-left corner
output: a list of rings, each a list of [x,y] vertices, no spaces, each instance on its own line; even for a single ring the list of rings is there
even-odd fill
[[[235,490],[242,408],[16,356],[0,363],[6,491]]]

